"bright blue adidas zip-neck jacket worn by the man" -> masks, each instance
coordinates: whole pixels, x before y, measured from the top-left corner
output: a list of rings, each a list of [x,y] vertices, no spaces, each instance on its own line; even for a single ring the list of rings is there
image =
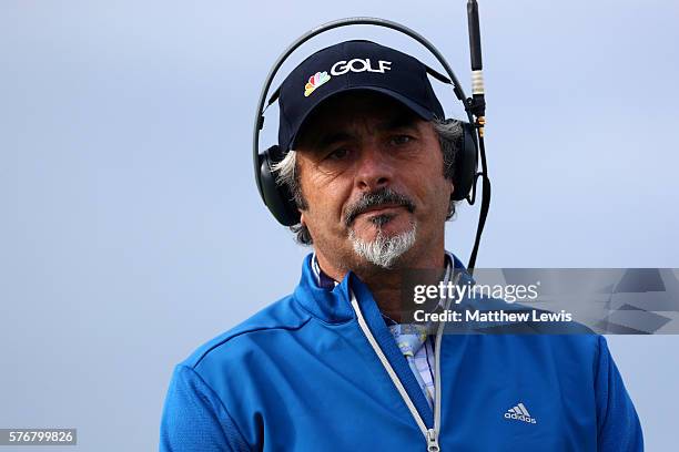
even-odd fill
[[[292,295],[176,366],[160,450],[426,451],[358,326],[352,291],[430,428],[434,413],[368,288],[351,273],[333,290],[318,287],[307,256]],[[440,382],[443,452],[643,450],[601,336],[444,335]]]

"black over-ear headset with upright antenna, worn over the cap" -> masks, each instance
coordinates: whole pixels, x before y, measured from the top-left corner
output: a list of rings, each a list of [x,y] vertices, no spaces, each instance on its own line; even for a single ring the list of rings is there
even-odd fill
[[[473,8],[476,8],[476,2],[469,1],[469,4],[473,4]],[[303,43],[311,40],[312,38],[321,34],[325,31],[333,30],[341,27],[348,25],[376,25],[384,27],[392,30],[396,30],[401,33],[404,33],[422,45],[424,45],[440,63],[440,65],[445,69],[448,76],[445,76],[433,69],[426,66],[427,73],[438,81],[453,85],[453,92],[456,97],[463,102],[465,105],[465,111],[467,113],[468,122],[460,121],[462,125],[462,137],[457,143],[457,153],[455,155],[455,167],[453,172],[453,184],[454,192],[452,195],[453,201],[462,201],[467,199],[467,202],[473,205],[476,199],[476,179],[478,177],[483,177],[484,184],[484,198],[482,202],[482,213],[479,216],[479,223],[477,227],[477,236],[474,246],[474,250],[472,253],[472,257],[469,259],[469,265],[467,268],[469,271],[473,271],[476,254],[478,250],[478,244],[480,242],[480,234],[483,232],[483,227],[486,220],[486,215],[489,206],[489,195],[490,195],[490,182],[487,177],[486,170],[486,155],[484,148],[484,125],[485,125],[485,99],[484,99],[484,88],[483,88],[483,78],[480,73],[480,39],[478,33],[478,11],[476,9],[470,10],[468,6],[469,13],[469,39],[472,44],[472,65],[473,65],[473,80],[474,80],[474,97],[467,99],[463,89],[460,88],[455,73],[448,65],[445,58],[440,54],[440,52],[427,41],[419,33],[411,30],[409,28],[393,21],[388,21],[385,19],[377,18],[346,18],[340,19],[332,22],[324,23],[311,31],[306,32],[302,37],[297,38],[276,60],[274,65],[268,71],[266,79],[264,81],[264,85],[262,88],[262,92],[260,94],[260,101],[257,103],[256,115],[255,115],[255,124],[253,131],[253,165],[254,165],[254,175],[255,182],[257,184],[257,189],[260,192],[260,196],[262,201],[268,207],[268,210],[273,214],[278,223],[284,226],[293,226],[300,223],[300,212],[297,210],[297,206],[293,201],[293,195],[290,193],[290,189],[285,185],[281,185],[276,182],[276,172],[273,170],[274,165],[281,162],[285,157],[285,153],[281,150],[281,147],[276,144],[264,152],[260,153],[260,132],[264,127],[264,111],[273,104],[280,94],[280,89],[276,90],[268,102],[266,102],[266,95],[268,94],[268,90],[271,84],[273,83],[273,79],[275,78],[278,69],[285,60]],[[475,18],[473,18],[475,16]],[[476,28],[474,28],[474,22]],[[477,64],[475,68],[475,56],[477,60]],[[476,121],[474,120],[476,116]],[[446,120],[446,122],[454,120]],[[478,156],[480,155],[483,172],[477,173],[478,167]]]

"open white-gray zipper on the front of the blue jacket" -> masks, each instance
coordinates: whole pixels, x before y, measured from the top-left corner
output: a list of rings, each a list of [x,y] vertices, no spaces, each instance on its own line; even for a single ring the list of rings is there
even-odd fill
[[[450,273],[452,273],[452,266],[448,265],[446,267],[444,285],[448,284],[448,280],[450,278]],[[457,284],[457,279],[459,279],[459,274],[456,277],[455,284]],[[363,335],[368,340],[371,347],[375,351],[375,355],[377,355],[379,362],[382,362],[382,366],[384,367],[389,378],[392,379],[392,382],[396,387],[396,390],[401,394],[401,398],[403,399],[406,407],[411,411],[411,414],[415,419],[417,427],[422,431],[422,434],[424,435],[425,441],[427,442],[427,452],[439,452],[440,446],[438,445],[438,432],[440,431],[440,391],[442,391],[440,390],[440,362],[439,361],[440,361],[440,342],[443,338],[443,330],[444,330],[445,323],[440,322],[436,330],[436,349],[434,350],[434,366],[436,367],[435,378],[434,378],[434,393],[435,393],[434,427],[432,429],[427,429],[427,425],[424,423],[424,420],[417,412],[417,409],[415,408],[415,403],[413,403],[413,400],[408,396],[408,392],[406,391],[405,387],[398,379],[398,376],[396,374],[396,371],[392,367],[392,363],[387,359],[386,355],[384,355],[384,351],[382,351],[382,348],[379,348],[377,340],[375,340],[373,332],[371,331],[367,322],[365,321],[365,318],[363,317],[363,312],[361,311],[361,307],[358,306],[356,296],[354,295],[354,291],[351,288],[349,288],[349,294],[352,298],[352,308],[354,309],[354,312],[356,314],[358,326],[361,327]],[[448,309],[448,307],[450,306],[450,301],[452,301],[450,299],[445,300],[445,309]]]

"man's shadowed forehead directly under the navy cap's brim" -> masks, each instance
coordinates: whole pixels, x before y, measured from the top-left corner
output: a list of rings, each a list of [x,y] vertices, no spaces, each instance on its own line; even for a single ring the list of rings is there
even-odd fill
[[[413,110],[385,94],[354,91],[334,95],[320,104],[302,124],[296,150],[315,146],[324,136],[351,134],[361,129],[378,133],[416,125],[423,121]]]

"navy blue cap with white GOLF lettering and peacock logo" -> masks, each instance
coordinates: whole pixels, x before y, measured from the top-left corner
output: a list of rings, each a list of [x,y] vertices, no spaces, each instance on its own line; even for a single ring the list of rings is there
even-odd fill
[[[386,94],[422,119],[444,119],[427,66],[371,41],[345,41],[308,56],[281,84],[278,145],[290,151],[304,121],[332,95],[352,90]]]

